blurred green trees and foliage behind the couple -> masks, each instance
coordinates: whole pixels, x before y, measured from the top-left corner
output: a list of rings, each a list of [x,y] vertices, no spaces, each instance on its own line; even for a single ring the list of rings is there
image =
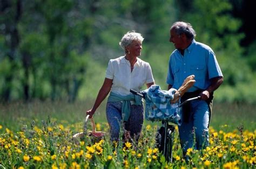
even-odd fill
[[[0,100],[92,101],[119,41],[135,30],[166,90],[173,22],[191,23],[224,74],[215,102],[256,103],[256,15],[250,0],[0,0]]]

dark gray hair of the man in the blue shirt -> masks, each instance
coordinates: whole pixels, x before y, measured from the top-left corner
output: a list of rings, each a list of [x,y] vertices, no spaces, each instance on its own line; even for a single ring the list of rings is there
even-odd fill
[[[172,29],[178,35],[185,33],[187,39],[194,39],[194,37],[196,37],[196,31],[194,31],[190,23],[175,22],[171,27],[171,30]]]

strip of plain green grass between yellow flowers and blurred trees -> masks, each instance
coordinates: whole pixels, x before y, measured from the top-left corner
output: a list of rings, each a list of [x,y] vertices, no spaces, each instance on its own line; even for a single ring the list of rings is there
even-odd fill
[[[80,122],[81,127],[85,119],[86,110],[92,107],[93,101],[79,101],[76,103],[66,103],[65,101],[29,103],[16,102],[0,104],[0,125],[8,126],[11,130],[18,131],[23,125],[29,125],[31,121],[45,121],[50,118],[56,121],[64,121],[68,124]],[[96,123],[106,123],[104,101],[95,114]],[[238,103],[217,103],[213,104],[211,126],[217,130],[233,131],[240,126],[245,130],[254,131],[256,129],[255,105]],[[28,124],[24,124],[24,118]],[[22,120],[21,120],[22,119]],[[147,124],[158,124],[149,121]]]

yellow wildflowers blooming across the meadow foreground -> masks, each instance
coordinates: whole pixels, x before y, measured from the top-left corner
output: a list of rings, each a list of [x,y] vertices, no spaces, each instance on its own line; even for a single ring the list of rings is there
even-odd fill
[[[24,124],[29,119],[21,118]],[[102,139],[85,137],[73,140],[83,124],[70,124],[56,118],[35,119],[18,131],[0,124],[0,168],[255,168],[256,130],[242,126],[227,132],[210,128],[210,146],[198,151],[188,149],[189,161],[182,158],[178,130],[174,132],[173,160],[167,163],[156,147],[157,125],[143,126],[138,145],[111,143],[107,123],[96,123],[105,131]]]

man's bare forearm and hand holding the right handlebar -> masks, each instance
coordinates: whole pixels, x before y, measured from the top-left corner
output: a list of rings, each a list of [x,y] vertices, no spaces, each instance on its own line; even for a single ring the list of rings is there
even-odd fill
[[[218,87],[223,83],[223,80],[224,79],[223,79],[222,76],[212,78],[211,79],[211,85],[200,94],[201,99],[202,100],[207,100],[210,97],[210,93],[212,93],[213,91],[218,89]]]

